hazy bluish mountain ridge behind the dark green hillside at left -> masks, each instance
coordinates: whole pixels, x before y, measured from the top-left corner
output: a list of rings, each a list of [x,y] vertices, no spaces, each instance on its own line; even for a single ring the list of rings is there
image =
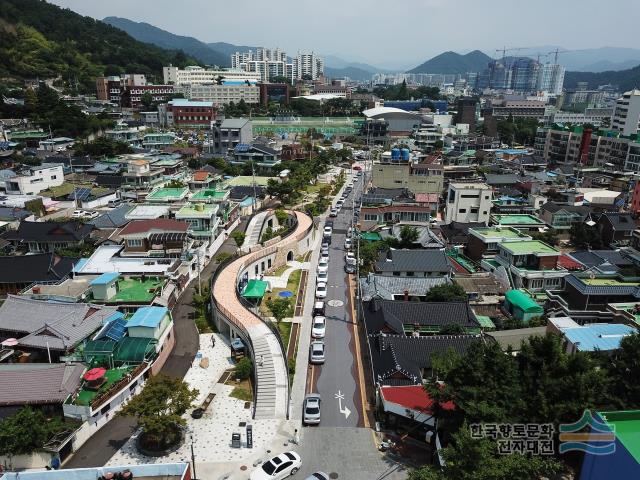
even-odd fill
[[[220,67],[231,66],[230,54],[215,50],[206,43],[193,37],[175,35],[161,28],[149,25],[148,23],[133,22],[127,18],[106,17],[102,19],[102,21],[120,30],[124,30],[141,42],[151,43],[170,50],[182,50],[206,65],[218,65]],[[236,50],[233,51],[235,52]]]

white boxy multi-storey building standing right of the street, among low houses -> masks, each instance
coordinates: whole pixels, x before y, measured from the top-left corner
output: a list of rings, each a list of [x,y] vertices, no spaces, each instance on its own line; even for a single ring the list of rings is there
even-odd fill
[[[450,183],[445,208],[445,223],[489,221],[491,187],[486,183]]]

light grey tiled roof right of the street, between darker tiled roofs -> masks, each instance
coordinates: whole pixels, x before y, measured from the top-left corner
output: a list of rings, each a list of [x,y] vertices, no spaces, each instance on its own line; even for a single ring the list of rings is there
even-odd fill
[[[449,283],[444,277],[387,277],[370,273],[360,278],[362,300],[368,302],[373,297],[383,300],[393,300],[394,295],[425,296],[427,291],[436,285]]]

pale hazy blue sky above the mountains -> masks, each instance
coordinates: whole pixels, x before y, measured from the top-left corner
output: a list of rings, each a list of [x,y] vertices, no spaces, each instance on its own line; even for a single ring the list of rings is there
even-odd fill
[[[615,0],[604,10],[601,0],[50,1],[204,42],[313,50],[387,68],[416,66],[447,50],[635,47],[640,19],[638,0]]]

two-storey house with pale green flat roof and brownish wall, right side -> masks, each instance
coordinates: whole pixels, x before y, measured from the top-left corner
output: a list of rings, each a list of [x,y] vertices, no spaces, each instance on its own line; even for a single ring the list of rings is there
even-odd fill
[[[560,252],[538,240],[506,242],[498,245],[498,255],[482,260],[487,271],[504,267],[514,288],[532,292],[556,289],[568,270],[558,265]]]

